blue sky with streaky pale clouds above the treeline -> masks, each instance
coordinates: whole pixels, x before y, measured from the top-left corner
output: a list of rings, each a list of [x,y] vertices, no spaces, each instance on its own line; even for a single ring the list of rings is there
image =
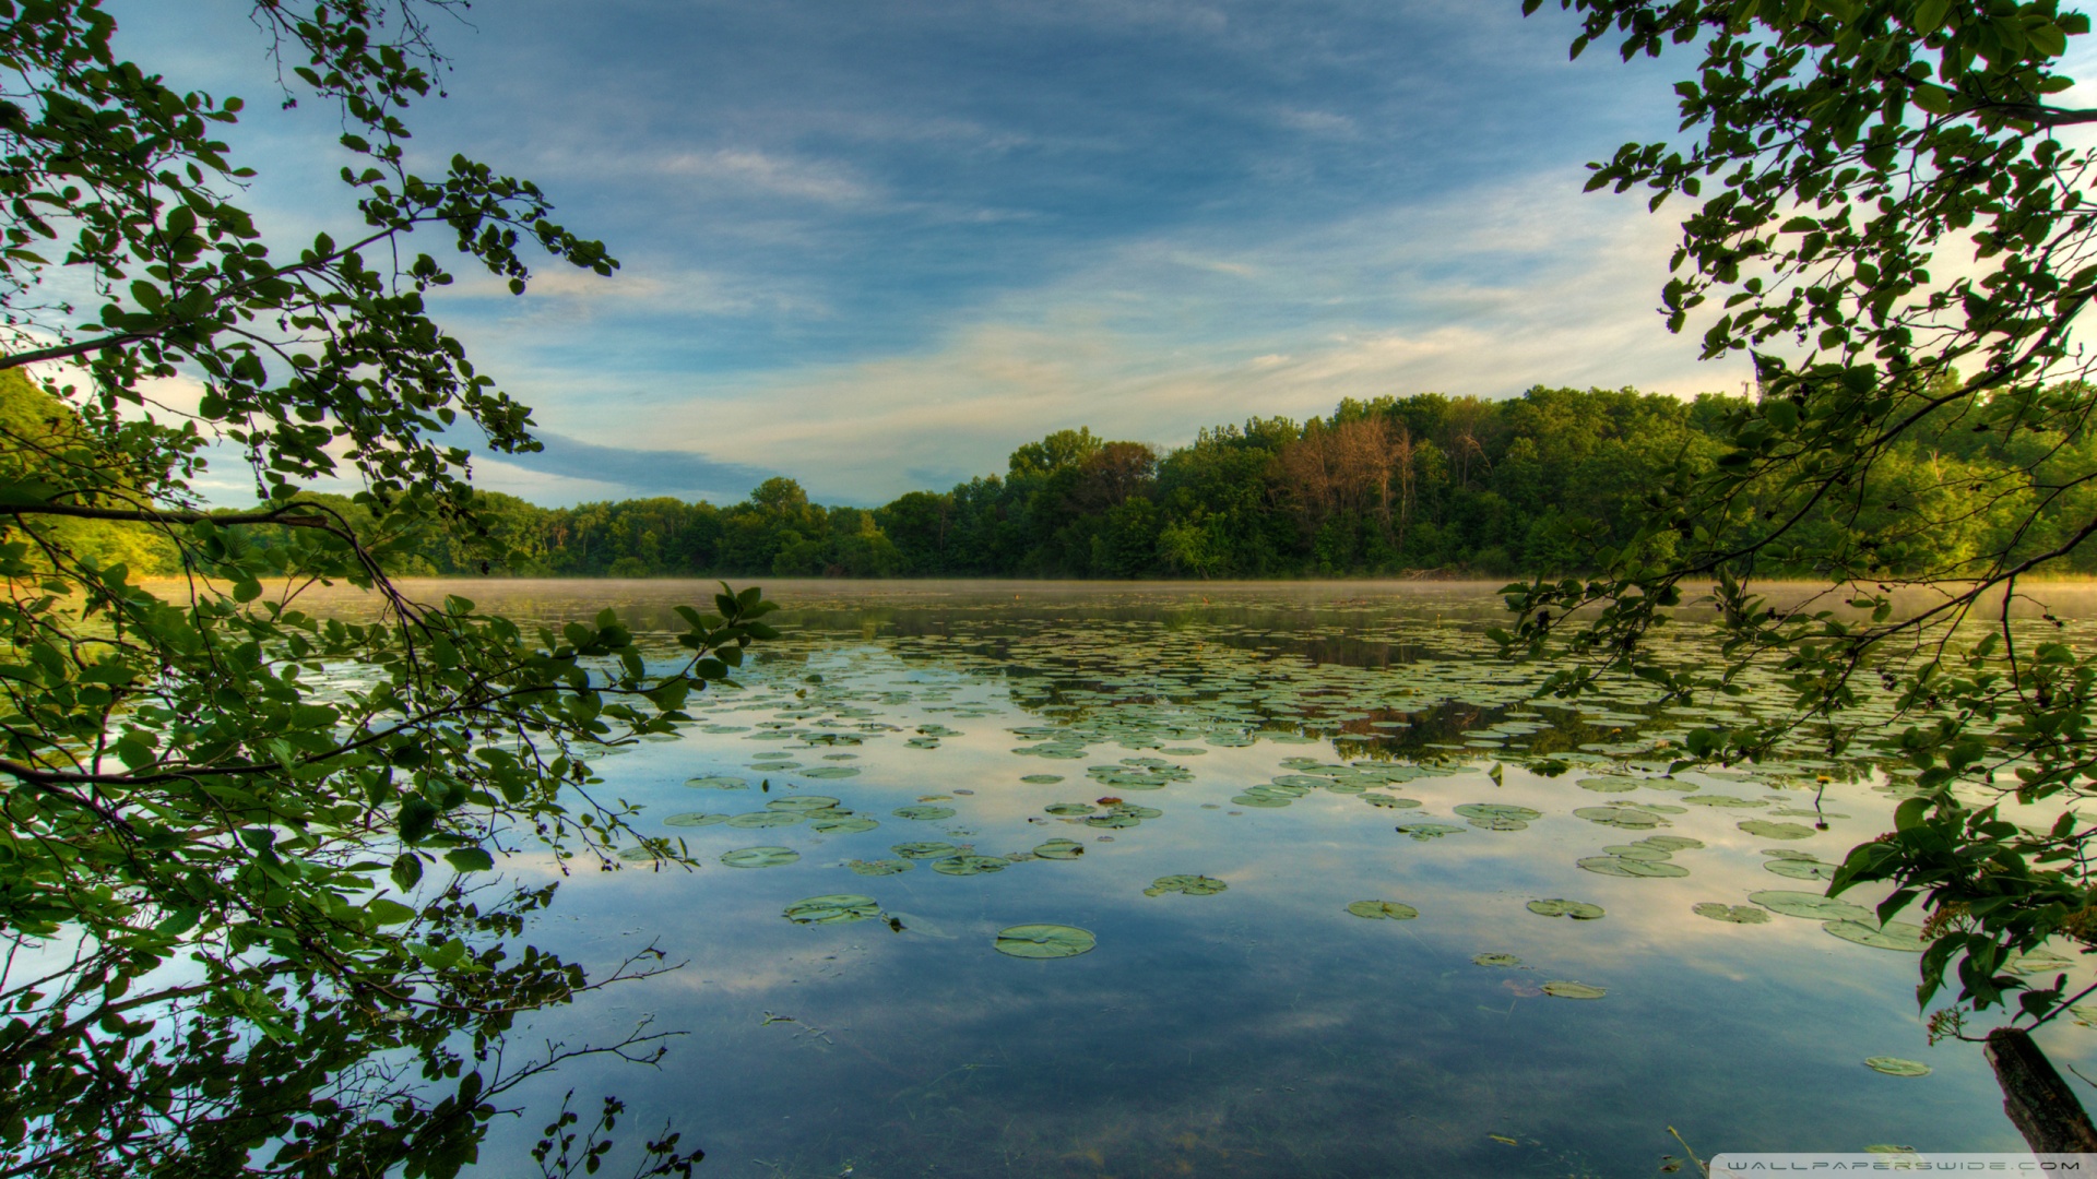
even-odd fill
[[[413,159],[537,180],[612,279],[459,269],[434,313],[535,407],[539,503],[881,503],[1051,430],[1183,445],[1342,396],[1738,392],[1652,310],[1673,218],[1583,195],[1676,69],[1518,0],[482,0]],[[336,115],[239,0],[113,0],[117,48],[250,99],[266,235],[352,222]],[[442,241],[424,248],[436,252]],[[229,485],[237,472],[226,472]]]

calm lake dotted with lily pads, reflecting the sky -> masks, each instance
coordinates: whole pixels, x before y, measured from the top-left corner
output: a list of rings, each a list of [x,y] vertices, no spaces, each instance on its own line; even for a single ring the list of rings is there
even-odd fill
[[[413,587],[665,631],[713,592]],[[1927,1043],[1912,927],[1818,898],[1902,778],[1803,730],[1669,776],[1686,728],[1780,694],[1531,699],[1491,590],[768,583],[784,638],[742,690],[598,764],[702,866],[577,873],[533,934],[686,965],[520,1041],[684,1036],[537,1097],[614,1091],[751,1177],[1652,1175],[1669,1127],[1705,1158],[2019,1148],[1977,1045]],[[1696,625],[1663,650],[1711,659]],[[2040,1043],[2097,1070],[2091,1028]]]

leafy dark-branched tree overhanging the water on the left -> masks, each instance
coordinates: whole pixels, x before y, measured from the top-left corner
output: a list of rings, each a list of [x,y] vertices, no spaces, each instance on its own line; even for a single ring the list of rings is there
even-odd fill
[[[610,610],[526,631],[386,577],[417,535],[482,531],[461,430],[535,447],[428,317],[451,275],[415,233],[516,294],[526,245],[614,269],[528,180],[409,168],[405,111],[440,69],[426,17],[449,6],[254,6],[285,101],[340,107],[361,220],[285,250],[216,138],[239,99],[115,57],[101,0],[0,0],[0,371],[52,407],[0,420],[0,1177],[474,1160],[547,1066],[503,1064],[503,1032],[604,982],[516,944],[552,889],[476,879],[520,843],[677,864],[598,799],[591,757],[669,732],[770,634],[755,590],[644,650]],[[191,413],[147,399],[176,376],[203,388]],[[197,476],[229,453],[260,506],[208,512]],[[302,495],[323,476],[361,485],[354,512]],[[149,533],[185,577],[140,585],[82,522]],[[321,579],[373,615],[304,613]],[[323,692],[321,671],[354,676]],[[562,1135],[541,1169],[596,1171]],[[669,1135],[640,1169],[694,1158]]]

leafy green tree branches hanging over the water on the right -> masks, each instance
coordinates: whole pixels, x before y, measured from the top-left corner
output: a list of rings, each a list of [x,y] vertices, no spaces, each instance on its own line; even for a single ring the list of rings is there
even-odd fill
[[[2097,157],[2061,134],[2097,111],[2059,101],[2068,38],[2089,19],[2055,0],[1560,6],[1581,21],[1575,55],[1604,40],[1625,59],[1694,55],[1676,86],[1692,141],[1625,145],[1590,189],[1642,189],[1655,210],[1692,201],[1667,325],[1701,325],[1705,357],[1751,355],[1761,396],[1724,420],[1715,466],[1678,466],[1642,531],[1598,554],[1602,577],[1512,585],[1508,644],[1562,631],[1594,667],[1629,663],[1678,694],[1778,663],[1799,715],[1699,732],[1699,757],[1757,757],[1799,724],[1839,753],[1858,696],[1894,692],[1921,795],[1850,854],[1833,892],[1894,881],[1881,919],[1927,908],[1919,996],[1957,996],[1938,1032],[1996,1005],[2042,1024],[2076,996],[2003,967],[2053,936],[2097,942],[2093,829],[2068,812],[2024,831],[2001,803],[2097,780],[2097,661],[2013,617],[2034,575],[2076,569],[2097,535],[2097,386],[2078,338],[2097,296]],[[1938,462],[1950,438],[1996,462]],[[1917,451],[1929,462],[1902,470]],[[1873,514],[1906,522],[1889,535]],[[1973,548],[1912,543],[1975,514],[2005,527]],[[1753,577],[1772,564],[1824,571],[1847,608],[1761,600]],[[1640,640],[1705,579],[1734,663],[1652,665]],[[1904,587],[1927,587],[1927,604],[1904,608]],[[1566,621],[1590,604],[1592,621]]]

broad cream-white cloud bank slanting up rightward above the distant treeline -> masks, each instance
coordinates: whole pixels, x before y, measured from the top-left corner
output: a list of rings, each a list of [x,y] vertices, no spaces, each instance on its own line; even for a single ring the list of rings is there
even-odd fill
[[[908,468],[996,472],[1015,445],[1080,424],[1172,445],[1342,396],[1736,390],[1745,361],[1696,363],[1696,338],[1652,313],[1673,233],[1638,201],[1543,176],[1267,243],[1116,248],[933,348],[692,388],[688,411],[669,396],[625,445],[732,438],[723,457],[812,493],[885,499],[910,489]],[[1189,264],[1218,254],[1246,262]]]

